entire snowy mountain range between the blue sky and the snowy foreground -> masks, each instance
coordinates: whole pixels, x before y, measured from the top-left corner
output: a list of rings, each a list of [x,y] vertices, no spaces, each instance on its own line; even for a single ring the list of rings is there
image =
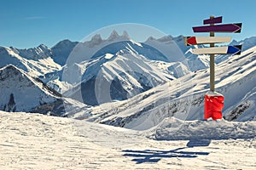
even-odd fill
[[[221,68],[221,74],[217,75],[216,81],[223,82],[219,84],[219,89],[224,93],[224,89],[235,89],[232,87],[233,82],[246,83],[248,89],[240,87],[243,90],[237,94],[239,98],[228,102],[229,107],[224,111],[227,111],[225,117],[229,120],[250,120],[253,116],[239,116],[241,110],[255,110],[252,109],[255,108],[252,106],[255,99],[251,88],[255,87],[255,81],[251,80],[255,78],[255,67],[252,65],[255,62],[253,47],[256,37],[233,43],[242,43],[244,53],[239,57],[217,55],[216,62],[218,68]],[[156,111],[156,106],[161,108],[160,105],[167,105],[166,102],[174,105],[177,99],[184,101],[184,104],[192,102],[186,97],[191,94],[200,96],[195,99],[199,102],[196,106],[199,109],[202,107],[201,95],[208,88],[209,57],[191,54],[191,48],[195,47],[184,46],[183,36],[159,39],[148,37],[146,42],[135,42],[126,31],[123,35],[113,31],[107,39],[96,34],[88,42],[63,40],[52,48],[44,44],[26,49],[0,47],[0,96],[3,96],[0,110],[84,117],[90,121],[131,127],[138,123],[134,122],[135,117],[137,120],[146,120],[145,114],[150,115]],[[250,73],[243,68],[250,68]],[[237,76],[240,71],[243,72]],[[237,80],[230,82],[230,77],[236,77]],[[189,82],[190,79],[196,83]],[[171,94],[166,91],[170,90],[170,86]],[[232,91],[232,94],[236,93]],[[147,100],[152,96],[153,100]],[[249,105],[248,100],[253,104]],[[154,105],[146,105],[146,101]],[[114,109],[110,111],[108,108],[108,114],[105,110],[98,110],[98,107],[102,108],[109,102]],[[119,102],[125,102],[126,109],[132,105],[134,110],[127,109],[130,111],[128,118],[119,116],[119,112],[122,112],[120,108],[123,108],[118,105]],[[139,103],[143,104],[134,105]],[[161,109],[164,111],[165,108]],[[177,111],[189,111],[188,108],[183,111],[180,109],[172,107],[168,111],[173,113],[172,116]],[[194,108],[194,116],[189,116],[189,119],[201,118],[197,116],[201,111],[202,108],[200,111]]]

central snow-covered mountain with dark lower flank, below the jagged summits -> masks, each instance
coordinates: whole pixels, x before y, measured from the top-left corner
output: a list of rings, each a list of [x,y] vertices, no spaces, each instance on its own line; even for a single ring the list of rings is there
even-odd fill
[[[84,71],[73,69],[72,66],[67,68],[69,71],[65,71],[67,75],[64,76],[68,80],[71,79],[70,82],[79,81],[74,78],[81,78],[82,82],[65,95],[89,105],[115,99],[129,99],[149,88],[168,82],[169,79],[176,79],[172,75],[165,76],[143,55],[128,50],[105,54],[89,62],[80,63],[77,67],[84,68]],[[77,77],[71,77],[74,74]]]

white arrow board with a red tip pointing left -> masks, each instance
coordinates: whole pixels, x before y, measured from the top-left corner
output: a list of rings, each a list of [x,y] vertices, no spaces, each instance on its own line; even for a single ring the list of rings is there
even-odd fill
[[[231,37],[184,37],[185,45],[230,42]]]

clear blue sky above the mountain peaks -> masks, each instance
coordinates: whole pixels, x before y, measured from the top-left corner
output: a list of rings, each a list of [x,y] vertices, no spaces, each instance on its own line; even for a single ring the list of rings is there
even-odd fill
[[[256,36],[252,0],[1,0],[0,4],[0,46],[52,47],[63,39],[80,41],[104,26],[122,23],[152,26],[172,36],[203,36],[191,27],[201,26],[211,14],[224,16],[224,23],[243,23],[240,34],[220,36],[237,40]]]

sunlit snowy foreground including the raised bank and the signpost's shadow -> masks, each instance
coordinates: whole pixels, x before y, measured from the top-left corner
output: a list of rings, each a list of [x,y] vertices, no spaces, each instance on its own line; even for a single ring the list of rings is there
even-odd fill
[[[0,111],[0,169],[256,169],[255,132],[256,122],[169,118],[132,131]]]

